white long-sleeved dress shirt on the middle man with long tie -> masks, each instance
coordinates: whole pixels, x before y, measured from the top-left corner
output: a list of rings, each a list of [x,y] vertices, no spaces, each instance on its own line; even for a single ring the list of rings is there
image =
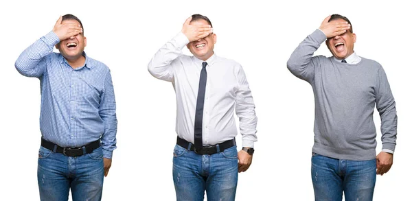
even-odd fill
[[[176,133],[194,143],[194,117],[202,62],[183,55],[189,40],[180,32],[163,45],[148,64],[149,72],[160,80],[172,82],[176,92]],[[231,140],[238,134],[233,111],[239,117],[242,146],[257,141],[255,104],[242,66],[213,54],[207,62],[207,84],[203,108],[203,145]]]

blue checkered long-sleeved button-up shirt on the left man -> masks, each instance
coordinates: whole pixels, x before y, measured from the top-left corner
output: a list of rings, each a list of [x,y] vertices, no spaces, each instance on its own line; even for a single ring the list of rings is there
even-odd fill
[[[61,147],[80,147],[101,138],[104,158],[116,148],[116,102],[111,73],[84,54],[84,66],[73,69],[59,53],[60,40],[49,32],[16,60],[21,75],[41,86],[40,130],[43,139]]]

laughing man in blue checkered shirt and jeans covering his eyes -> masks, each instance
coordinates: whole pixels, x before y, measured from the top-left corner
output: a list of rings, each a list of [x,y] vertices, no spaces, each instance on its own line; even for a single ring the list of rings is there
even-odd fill
[[[41,200],[68,200],[70,189],[73,200],[102,198],[116,148],[116,102],[110,70],[84,53],[86,45],[81,21],[66,14],[16,60],[19,73],[41,83]]]

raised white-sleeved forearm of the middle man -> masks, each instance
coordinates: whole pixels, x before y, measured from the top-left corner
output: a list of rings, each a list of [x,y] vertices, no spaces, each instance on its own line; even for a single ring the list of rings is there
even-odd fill
[[[179,33],[172,40],[168,41],[153,56],[148,64],[148,71],[155,78],[160,80],[171,81],[173,78],[172,62],[181,56],[182,49],[189,43],[185,34]]]

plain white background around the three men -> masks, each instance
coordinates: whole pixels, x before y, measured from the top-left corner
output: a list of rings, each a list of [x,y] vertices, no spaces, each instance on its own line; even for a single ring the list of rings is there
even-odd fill
[[[88,56],[108,65],[117,100],[117,150],[102,200],[175,200],[172,151],[176,102],[172,84],[147,64],[185,19],[203,14],[218,36],[215,52],[242,64],[258,115],[253,163],[239,174],[236,200],[314,200],[310,176],[314,100],[310,84],[286,61],[329,14],[352,21],[359,56],[384,67],[398,110],[393,167],[378,176],[374,200],[409,200],[411,21],[407,1],[3,1],[0,3],[0,200],[39,200],[37,152],[40,87],[14,69],[19,54],[74,14]],[[184,52],[190,54],[185,48]],[[325,45],[316,52],[330,56]],[[374,114],[380,142],[380,119]],[[237,137],[241,147],[240,134]]]

